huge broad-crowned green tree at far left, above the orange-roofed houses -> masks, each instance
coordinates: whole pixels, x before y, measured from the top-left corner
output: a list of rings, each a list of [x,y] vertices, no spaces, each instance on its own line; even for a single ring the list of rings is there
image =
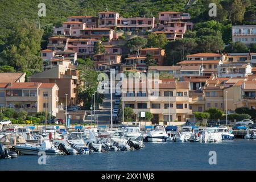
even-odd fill
[[[19,71],[24,69],[42,69],[40,42],[43,31],[34,23],[22,20],[11,25],[11,32],[5,42],[1,57],[7,65]]]

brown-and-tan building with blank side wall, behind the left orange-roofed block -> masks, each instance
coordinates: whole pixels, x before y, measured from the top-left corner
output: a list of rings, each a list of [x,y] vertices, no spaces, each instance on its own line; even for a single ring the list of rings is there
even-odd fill
[[[56,83],[59,87],[59,106],[65,105],[65,94],[67,94],[67,104],[75,105],[77,97],[77,87],[82,83],[79,81],[78,71],[67,68],[64,65],[57,65],[55,68],[36,73],[29,77],[32,82]]]

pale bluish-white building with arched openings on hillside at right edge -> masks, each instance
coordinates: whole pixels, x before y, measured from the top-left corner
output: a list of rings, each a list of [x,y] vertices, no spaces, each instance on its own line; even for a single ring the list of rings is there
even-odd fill
[[[256,26],[232,26],[232,41],[249,46],[256,43]]]

